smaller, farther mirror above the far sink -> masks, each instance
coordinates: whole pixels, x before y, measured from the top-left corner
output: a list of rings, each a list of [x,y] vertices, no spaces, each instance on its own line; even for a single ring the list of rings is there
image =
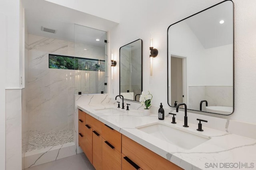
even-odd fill
[[[142,40],[120,47],[120,95],[139,101],[142,92]]]

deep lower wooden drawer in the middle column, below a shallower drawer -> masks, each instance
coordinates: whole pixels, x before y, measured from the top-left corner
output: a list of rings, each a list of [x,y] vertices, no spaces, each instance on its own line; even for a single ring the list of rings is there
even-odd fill
[[[102,170],[121,170],[121,153],[102,138]]]

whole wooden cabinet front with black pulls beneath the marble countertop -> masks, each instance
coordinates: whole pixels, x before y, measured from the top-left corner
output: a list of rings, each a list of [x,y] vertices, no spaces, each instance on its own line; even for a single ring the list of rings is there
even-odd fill
[[[182,170],[80,109],[78,144],[96,170]]]

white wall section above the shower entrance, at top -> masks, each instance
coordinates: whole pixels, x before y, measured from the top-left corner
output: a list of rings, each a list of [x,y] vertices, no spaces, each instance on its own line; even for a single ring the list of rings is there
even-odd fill
[[[106,20],[119,22],[120,0],[46,0]]]

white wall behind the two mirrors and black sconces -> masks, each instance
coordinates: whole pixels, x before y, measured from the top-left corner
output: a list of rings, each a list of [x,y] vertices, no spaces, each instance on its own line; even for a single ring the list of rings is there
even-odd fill
[[[118,60],[118,49],[138,38],[143,40],[143,89],[150,89],[152,105],[160,102],[167,107],[167,28],[172,23],[204,10],[222,0],[130,0],[120,1],[120,24],[109,31],[110,51]],[[130,5],[134,4],[134,5]],[[234,0],[235,23],[235,111],[227,119],[256,123],[256,1]],[[127,8],[129,7],[129,8]],[[152,7],[154,7],[152,9]],[[132,11],[132,12],[131,12]],[[154,22],[152,22],[154,21]],[[153,76],[149,76],[150,31],[154,32],[154,47],[158,56],[153,59]],[[117,61],[118,62],[118,61]],[[117,64],[114,80],[109,87],[112,97],[118,95]],[[114,94],[112,94],[114,92]]]

